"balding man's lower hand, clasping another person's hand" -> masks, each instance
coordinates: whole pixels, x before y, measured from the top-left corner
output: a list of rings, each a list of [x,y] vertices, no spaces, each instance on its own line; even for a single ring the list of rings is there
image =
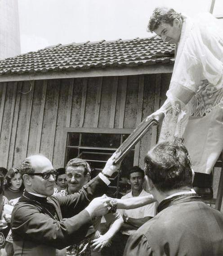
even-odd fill
[[[89,205],[85,208],[89,212],[91,218],[96,216],[103,216],[111,210],[110,199],[107,196],[94,198]]]

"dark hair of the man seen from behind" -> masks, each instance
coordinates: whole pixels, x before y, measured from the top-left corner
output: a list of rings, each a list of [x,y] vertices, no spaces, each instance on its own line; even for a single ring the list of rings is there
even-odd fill
[[[190,157],[182,140],[175,138],[152,148],[145,157],[145,174],[162,192],[192,187]]]

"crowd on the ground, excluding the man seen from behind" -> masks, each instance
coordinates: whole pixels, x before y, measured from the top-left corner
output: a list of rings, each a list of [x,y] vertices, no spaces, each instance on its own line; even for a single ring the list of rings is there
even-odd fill
[[[116,250],[117,243],[113,243],[112,238],[115,237],[116,233],[124,225],[122,215],[117,208],[129,209],[139,207],[138,209],[140,210],[145,204],[154,202],[152,195],[143,190],[143,170],[135,166],[129,176],[129,182],[131,183],[131,180],[133,180],[131,183],[133,196],[136,197],[141,194],[141,201],[135,200],[136,198],[133,198],[132,201],[112,199],[103,195],[100,198],[94,199],[95,201],[92,201],[92,205],[91,203],[88,205],[93,197],[106,192],[107,185],[109,184],[108,176],[117,171],[117,168],[118,166],[108,165],[107,169],[104,169],[103,174],[100,174],[99,177],[91,181],[92,185],[89,184],[90,166],[88,162],[79,158],[71,159],[67,163],[66,168],[58,168],[57,170],[53,169],[49,159],[43,155],[27,157],[22,161],[20,167],[13,167],[9,171],[1,168],[1,198],[3,201],[2,208],[0,209],[2,215],[0,228],[3,231],[4,228],[9,227],[14,231],[13,227],[16,225],[15,229],[17,230],[15,234],[12,234],[13,237],[9,229],[7,229],[7,234],[3,233],[4,237],[7,238],[4,246],[2,244],[2,247],[4,247],[1,250],[2,254],[7,256],[115,255],[112,250]],[[131,177],[132,175],[134,177]],[[86,184],[88,185],[87,188],[85,188]],[[54,198],[50,198],[52,195]],[[73,197],[69,195],[73,195]],[[49,202],[46,200],[47,196]],[[17,210],[17,214],[13,212],[13,218],[11,214],[4,213],[4,205],[6,204],[12,207],[15,206],[14,211]],[[154,216],[156,209],[154,203],[152,205],[153,213],[151,216]],[[84,208],[85,211],[81,211]],[[126,211],[131,212],[134,210]],[[48,218],[45,218],[42,214],[47,215]],[[22,216],[26,216],[27,220],[22,220],[21,222]],[[50,221],[49,218],[51,219]],[[32,223],[32,221],[34,222]],[[71,221],[73,221],[73,225],[71,225]],[[31,222],[28,229],[24,222],[26,224]],[[60,222],[59,229],[58,222]],[[102,234],[101,225],[103,223],[106,223],[107,230]],[[132,225],[133,227],[134,230],[137,229],[134,225]],[[45,239],[42,229],[49,229]],[[49,234],[50,229],[52,229],[52,234]],[[25,243],[22,234],[25,235],[26,232],[38,242],[31,242],[33,238],[31,240],[28,238]],[[54,234],[54,232],[56,233]],[[64,232],[67,232],[67,234],[64,234]],[[54,235],[55,238],[53,238]],[[69,235],[71,235],[70,238]],[[41,243],[39,239],[42,241]],[[49,243],[50,246],[45,246],[44,241]],[[122,248],[124,249],[125,246],[123,247],[123,245]],[[110,247],[109,250],[106,250],[107,247]],[[117,251],[116,255],[120,255],[120,250]]]

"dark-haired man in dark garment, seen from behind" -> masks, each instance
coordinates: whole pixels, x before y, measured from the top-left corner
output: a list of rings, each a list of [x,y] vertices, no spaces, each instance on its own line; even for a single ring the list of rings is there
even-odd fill
[[[145,157],[149,190],[160,202],[158,214],[130,236],[125,256],[222,256],[223,215],[192,190],[185,146],[157,144]]]

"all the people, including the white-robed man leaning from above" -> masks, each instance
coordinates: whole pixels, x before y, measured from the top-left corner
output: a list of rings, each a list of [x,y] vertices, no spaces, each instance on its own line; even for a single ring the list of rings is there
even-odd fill
[[[160,141],[146,154],[144,171],[129,170],[131,191],[120,199],[106,195],[109,178],[120,168],[114,156],[92,180],[89,163],[79,158],[57,170],[43,155],[31,155],[9,171],[1,168],[2,253],[223,255],[223,215],[192,188],[192,165],[209,174],[223,149],[222,30],[210,15],[198,21],[166,8],[155,9],[148,29],[176,44],[177,56],[167,100],[151,115],[164,118]],[[176,135],[185,138],[192,165]]]

